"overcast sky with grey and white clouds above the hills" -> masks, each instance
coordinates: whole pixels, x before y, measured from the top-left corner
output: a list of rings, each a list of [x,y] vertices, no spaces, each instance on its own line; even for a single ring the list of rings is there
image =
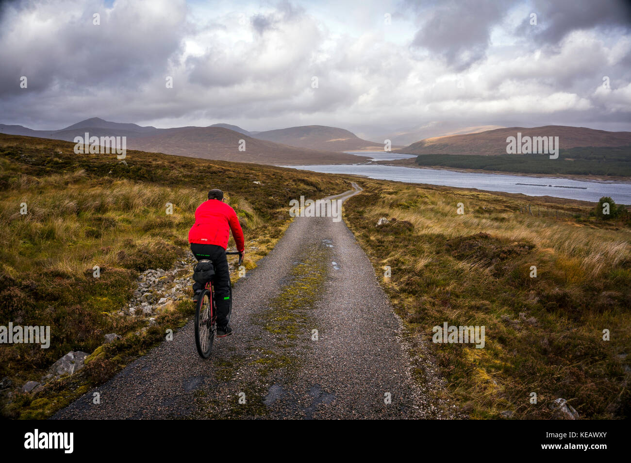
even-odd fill
[[[322,124],[378,141],[441,124],[631,130],[627,4],[8,2],[0,123]]]

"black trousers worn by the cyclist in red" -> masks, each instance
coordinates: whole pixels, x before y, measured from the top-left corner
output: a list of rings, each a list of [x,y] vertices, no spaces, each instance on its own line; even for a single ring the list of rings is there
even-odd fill
[[[215,267],[215,301],[217,303],[217,325],[223,327],[230,322],[230,271],[226,250],[216,244],[191,243],[191,251],[197,260],[208,259]],[[193,291],[201,291],[204,286],[195,282]]]

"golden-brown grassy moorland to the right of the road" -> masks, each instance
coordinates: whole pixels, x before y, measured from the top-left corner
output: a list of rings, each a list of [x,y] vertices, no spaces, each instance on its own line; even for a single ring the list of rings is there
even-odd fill
[[[378,181],[346,220],[408,329],[428,341],[472,418],[629,415],[631,229],[593,205]],[[558,209],[557,219],[522,213]],[[464,214],[457,213],[463,203]],[[520,212],[522,211],[522,212]],[[380,217],[390,222],[376,226]],[[536,267],[536,277],[533,270]],[[433,344],[432,328],[485,326],[486,344]],[[603,340],[603,330],[610,340]],[[531,393],[537,403],[531,404]]]

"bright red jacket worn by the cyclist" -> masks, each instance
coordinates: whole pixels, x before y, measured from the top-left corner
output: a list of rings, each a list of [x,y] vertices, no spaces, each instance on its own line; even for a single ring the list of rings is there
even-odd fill
[[[235,210],[220,200],[204,201],[195,210],[195,224],[189,230],[189,243],[216,244],[226,249],[230,230],[237,243],[237,251],[243,252],[243,231]]]

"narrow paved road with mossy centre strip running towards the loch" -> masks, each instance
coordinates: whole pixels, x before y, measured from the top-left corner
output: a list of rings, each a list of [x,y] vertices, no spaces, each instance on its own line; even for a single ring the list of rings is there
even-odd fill
[[[343,221],[297,217],[233,299],[235,334],[210,359],[189,322],[54,418],[444,418]]]

